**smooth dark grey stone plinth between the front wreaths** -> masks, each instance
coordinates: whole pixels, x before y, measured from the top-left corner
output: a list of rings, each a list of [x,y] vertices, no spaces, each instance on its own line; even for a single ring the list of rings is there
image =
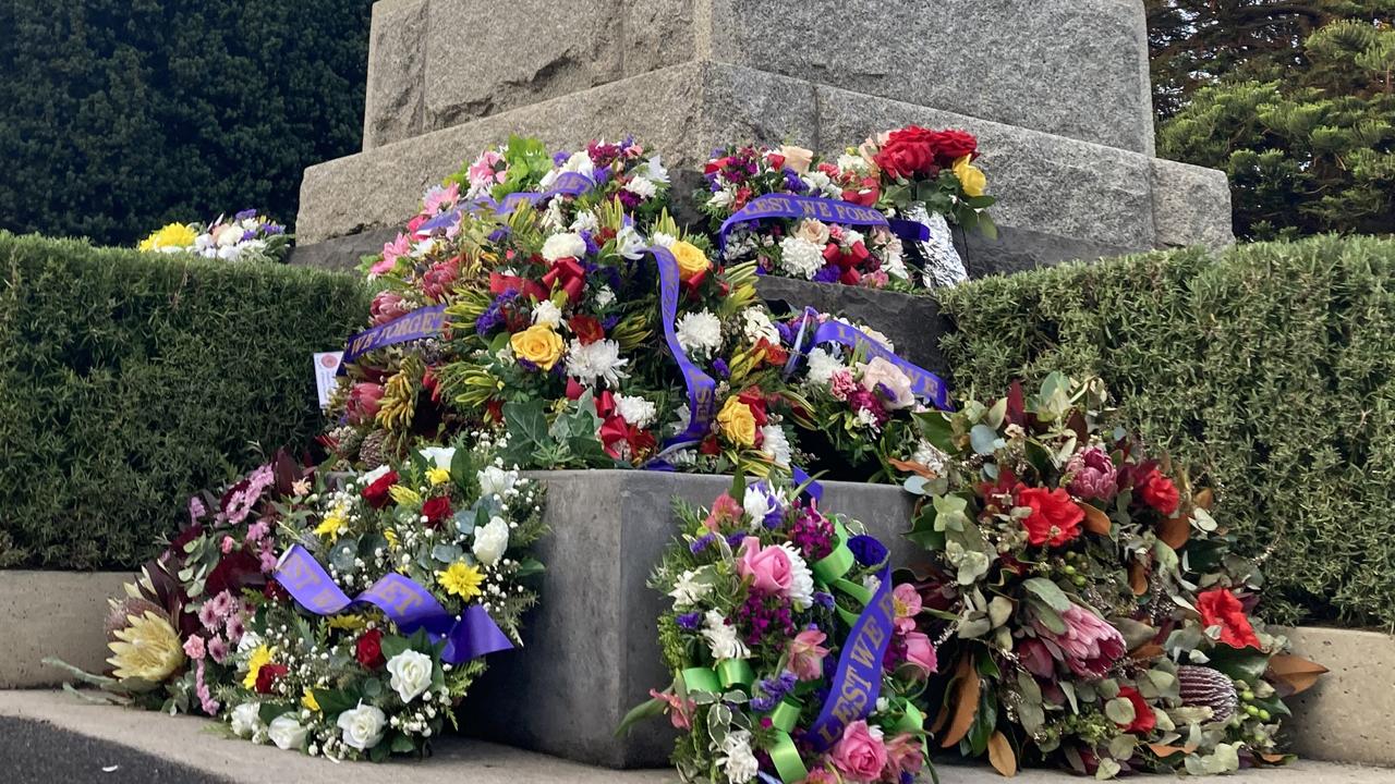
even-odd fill
[[[663,766],[667,721],[614,735],[631,707],[672,674],[658,654],[654,622],[663,597],[646,586],[677,534],[672,498],[710,504],[730,477],[654,472],[543,472],[552,533],[541,604],[527,618],[527,646],[494,654],[466,702],[462,725],[483,738],[608,767]],[[912,548],[911,497],[897,487],[824,483],[823,508],[862,520],[897,564]]]

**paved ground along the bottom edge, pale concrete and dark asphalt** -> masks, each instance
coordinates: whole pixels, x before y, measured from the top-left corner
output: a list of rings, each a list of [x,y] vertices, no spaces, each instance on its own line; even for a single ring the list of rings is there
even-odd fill
[[[672,784],[665,770],[601,770],[545,755],[449,738],[424,762],[335,764],[275,746],[223,739],[208,721],[82,703],[61,692],[0,691],[0,781],[4,784]],[[107,767],[116,766],[106,771]],[[942,784],[1002,784],[992,769],[942,764]],[[1014,784],[1088,781],[1050,770]],[[1136,777],[1145,784],[1163,777]],[[1395,770],[1321,762],[1246,771],[1243,784],[1395,784]]]

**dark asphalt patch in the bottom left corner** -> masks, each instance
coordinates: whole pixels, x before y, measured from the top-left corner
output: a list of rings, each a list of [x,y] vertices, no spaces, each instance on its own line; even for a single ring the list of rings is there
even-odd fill
[[[7,784],[227,784],[127,746],[43,721],[0,716],[0,781]]]

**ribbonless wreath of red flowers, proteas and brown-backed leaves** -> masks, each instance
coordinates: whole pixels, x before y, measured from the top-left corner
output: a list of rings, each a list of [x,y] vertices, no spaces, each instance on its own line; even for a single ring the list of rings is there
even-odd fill
[[[1115,424],[1099,379],[918,416],[919,628],[940,643],[944,748],[999,770],[1225,773],[1281,762],[1283,695],[1320,667],[1251,612],[1257,562],[1183,472]]]

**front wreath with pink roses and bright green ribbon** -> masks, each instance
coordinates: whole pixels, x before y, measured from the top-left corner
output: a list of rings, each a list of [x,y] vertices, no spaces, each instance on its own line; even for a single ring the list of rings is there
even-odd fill
[[[658,639],[674,684],[625,724],[667,713],[682,731],[672,760],[684,781],[904,784],[925,766],[911,700],[936,663],[914,628],[910,586],[894,589],[891,639],[869,661],[880,698],[826,730],[823,744],[810,732],[850,628],[889,572],[882,543],[822,512],[806,490],[745,487],[738,476],[710,509],[675,504],[684,534],[651,579],[672,600]]]

